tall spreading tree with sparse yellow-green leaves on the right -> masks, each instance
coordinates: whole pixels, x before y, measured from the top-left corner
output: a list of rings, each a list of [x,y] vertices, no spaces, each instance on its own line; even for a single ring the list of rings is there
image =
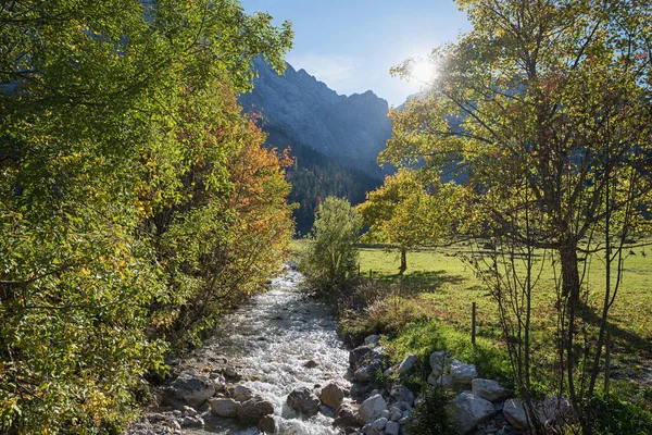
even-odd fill
[[[603,302],[587,308],[578,257],[601,251],[607,263],[622,265],[622,249],[612,247],[636,237],[649,202],[652,5],[459,3],[473,29],[432,52],[438,78],[424,98],[393,112],[394,135],[384,158],[417,163],[436,179],[442,171],[464,172],[460,188],[472,199],[467,210],[474,210],[465,221],[477,224],[466,226],[471,234],[526,247],[530,259],[535,248],[553,253],[552,264],[561,266],[556,389],[569,397],[588,434],[617,287],[607,277]],[[412,64],[396,71],[410,74]],[[500,298],[504,275],[486,276]],[[530,278],[527,272],[517,282],[526,283],[526,296],[536,284]],[[590,309],[598,324],[581,319]],[[525,303],[524,316],[515,320],[519,333],[529,327],[530,310]],[[579,337],[588,331],[594,334]],[[529,339],[526,333],[519,346],[529,349]],[[529,397],[532,366],[527,359],[523,363],[517,382]],[[532,412],[530,418],[537,419]]]

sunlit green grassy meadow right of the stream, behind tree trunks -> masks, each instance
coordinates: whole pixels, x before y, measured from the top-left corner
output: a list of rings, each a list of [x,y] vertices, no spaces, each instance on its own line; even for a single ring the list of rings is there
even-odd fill
[[[296,241],[300,251],[303,241]],[[400,361],[417,353],[426,359],[435,349],[449,349],[456,358],[478,365],[480,375],[506,380],[510,362],[499,327],[496,302],[489,289],[463,261],[469,247],[423,249],[409,253],[408,271],[397,272],[400,259],[383,248],[364,247],[360,253],[361,284],[352,306],[342,310],[342,335],[359,344],[368,334],[381,334],[384,344]],[[649,368],[652,366],[652,256],[641,248],[629,253],[618,298],[613,306],[614,388],[639,405],[652,408]],[[604,285],[604,266],[589,259],[589,286],[595,296]],[[371,276],[371,278],[369,278]],[[535,363],[554,360],[554,273],[544,268],[534,296]],[[472,303],[477,304],[477,346],[471,346]],[[364,311],[355,307],[365,306]],[[538,380],[541,390],[549,381]],[[648,385],[648,386],[645,386]]]

